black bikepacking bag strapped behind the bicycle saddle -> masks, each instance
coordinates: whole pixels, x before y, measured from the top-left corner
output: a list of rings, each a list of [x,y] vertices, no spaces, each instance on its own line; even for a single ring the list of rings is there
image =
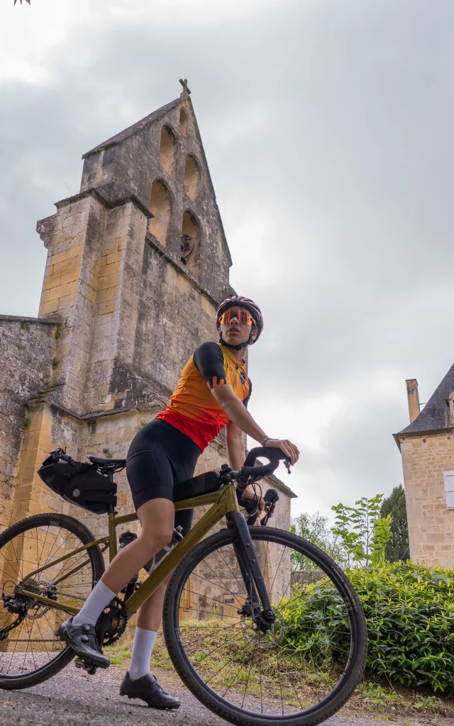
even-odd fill
[[[41,464],[38,474],[44,484],[70,504],[94,514],[106,514],[117,504],[117,485],[110,484],[97,464],[75,461],[57,449]]]

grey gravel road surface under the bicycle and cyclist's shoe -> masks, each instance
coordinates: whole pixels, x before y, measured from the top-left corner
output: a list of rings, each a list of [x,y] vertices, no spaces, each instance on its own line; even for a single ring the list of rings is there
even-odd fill
[[[225,721],[208,711],[169,672],[155,672],[165,690],[182,700],[177,711],[155,711],[145,703],[121,698],[119,686],[123,671],[114,666],[94,676],[67,666],[52,679],[26,690],[4,690],[0,698],[0,725],[7,726],[220,726]],[[400,726],[399,719],[389,719]],[[431,723],[421,719],[413,724]],[[329,726],[378,726],[382,722],[363,715],[333,717]],[[410,721],[404,719],[405,726]],[[454,721],[439,719],[437,724]]]

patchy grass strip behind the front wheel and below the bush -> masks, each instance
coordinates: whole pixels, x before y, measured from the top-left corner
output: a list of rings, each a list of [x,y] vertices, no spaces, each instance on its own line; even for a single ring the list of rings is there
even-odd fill
[[[222,627],[219,625],[222,619],[213,617],[204,621],[185,620],[182,622],[182,639],[185,643],[187,653],[190,654],[192,662],[196,664],[198,672],[202,677],[214,677],[213,685],[217,689],[236,687],[241,690],[242,684],[249,681],[248,693],[259,696],[260,682],[251,681],[253,671],[247,664],[245,655],[248,653],[248,646],[245,648],[245,641],[242,637],[233,638],[233,642],[226,643],[225,635],[222,635]],[[232,630],[233,632],[233,630]],[[189,635],[190,634],[190,635]],[[239,633],[238,633],[239,634]],[[230,640],[230,639],[229,639]],[[243,640],[243,645],[241,641]],[[253,647],[251,645],[251,647]],[[129,668],[131,658],[132,640],[120,640],[115,645],[105,648],[105,653],[110,657],[113,665],[126,671]],[[275,658],[269,656],[267,650],[259,651],[259,662],[262,670],[262,689],[268,697],[280,698],[280,688],[277,679],[279,674],[280,684],[288,683],[288,702],[293,703],[290,688],[294,684],[299,685],[299,697],[301,705],[309,706],[314,703],[317,696],[326,693],[327,687],[334,685],[339,679],[339,674],[334,670],[320,670],[306,662],[298,660],[295,656],[288,655],[279,658],[278,671]],[[243,664],[242,661],[243,660]],[[164,643],[163,632],[160,630],[155,640],[153,656],[150,661],[151,671],[153,669],[164,669],[174,672],[174,666],[167,653]],[[221,676],[216,676],[221,670]],[[177,674],[174,673],[174,677]],[[298,709],[299,703],[293,703]],[[366,674],[352,698],[346,703],[341,714],[373,714],[383,719],[395,719],[395,717],[444,717],[454,718],[454,700],[451,698],[434,696],[429,690],[394,688],[386,681],[378,677],[370,677]]]

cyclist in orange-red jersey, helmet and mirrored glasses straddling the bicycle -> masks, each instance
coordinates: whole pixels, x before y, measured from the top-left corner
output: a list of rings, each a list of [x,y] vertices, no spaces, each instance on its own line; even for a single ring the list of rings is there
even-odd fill
[[[282,449],[291,463],[299,451],[288,439],[272,439],[247,410],[252,384],[246,375],[246,348],[263,330],[262,313],[254,301],[234,295],[216,313],[219,343],[202,343],[182,370],[166,409],[134,436],[126,457],[126,473],[141,534],[108,566],[81,611],[57,630],[79,658],[107,668],[95,626],[104,608],[140,568],[169,543],[174,526],[187,534],[192,510],[175,513],[173,488],[194,474],[203,449],[226,427],[227,459],[232,469],[244,464],[244,433],[263,446]],[[207,385],[208,384],[208,385]],[[244,497],[254,499],[246,489]],[[264,500],[259,502],[264,509]],[[162,690],[150,674],[153,644],[161,625],[167,581],[137,611],[137,627],[122,696],[142,698],[158,709],[177,709],[179,699]]]

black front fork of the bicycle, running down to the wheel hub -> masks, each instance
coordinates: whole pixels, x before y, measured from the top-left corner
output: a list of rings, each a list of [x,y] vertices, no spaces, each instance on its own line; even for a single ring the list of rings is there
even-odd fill
[[[241,576],[243,577],[243,582],[246,587],[246,592],[248,593],[248,597],[251,602],[252,614],[255,616],[255,605],[261,605],[262,612],[260,613],[260,616],[264,619],[264,621],[271,624],[275,621],[275,614],[272,611],[267,587],[259,566],[248,523],[240,512],[229,512],[226,517],[227,521],[230,521],[230,526],[235,529],[237,534],[237,539],[233,543],[233,548],[235,550],[238,566],[240,567]]]

